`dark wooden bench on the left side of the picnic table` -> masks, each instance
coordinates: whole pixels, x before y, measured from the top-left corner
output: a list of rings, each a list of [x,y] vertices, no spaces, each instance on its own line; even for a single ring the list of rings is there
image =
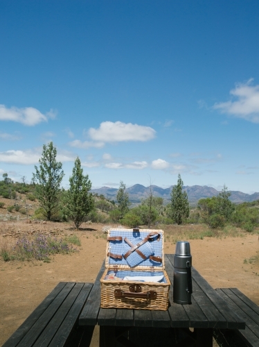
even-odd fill
[[[3,347],[71,346],[76,339],[84,339],[89,346],[94,327],[80,329],[78,316],[87,301],[92,283],[60,282],[21,326],[3,344]],[[78,344],[79,345],[79,344]]]

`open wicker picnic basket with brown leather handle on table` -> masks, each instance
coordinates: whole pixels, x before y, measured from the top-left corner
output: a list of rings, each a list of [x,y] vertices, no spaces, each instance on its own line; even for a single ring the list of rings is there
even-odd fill
[[[161,257],[162,262],[155,264],[151,260],[145,260],[143,264],[131,268],[125,264],[125,260],[116,260],[109,257],[111,251],[110,237],[127,235],[134,230],[129,229],[110,229],[107,241],[107,256],[105,260],[105,272],[100,279],[101,303],[102,308],[127,308],[134,310],[168,310],[168,297],[170,280],[164,269],[163,257],[163,230],[139,230],[139,235],[145,238],[150,232],[157,232],[160,235],[159,244],[154,247],[154,256]],[[138,235],[138,236],[139,236]],[[156,242],[156,241],[155,241]],[[118,243],[118,242],[117,242]],[[112,242],[113,253],[116,252],[116,242]],[[159,245],[159,246],[158,246]],[[118,246],[121,248],[121,245]],[[157,251],[156,251],[157,249]],[[105,280],[105,277],[115,272],[116,280]],[[145,277],[163,276],[162,282],[142,282],[123,280],[126,276]]]

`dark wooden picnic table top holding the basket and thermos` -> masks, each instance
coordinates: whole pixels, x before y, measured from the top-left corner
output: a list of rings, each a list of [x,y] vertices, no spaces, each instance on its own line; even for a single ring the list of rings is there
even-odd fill
[[[170,306],[167,311],[127,310],[100,308],[100,278],[105,271],[102,264],[96,282],[79,317],[79,325],[100,325],[100,346],[116,346],[116,341],[125,346],[136,346],[125,341],[123,332],[130,328],[177,328],[186,333],[186,339],[177,346],[213,346],[214,329],[244,329],[240,319],[221,298],[215,289],[193,267],[193,295],[191,305],[173,303],[174,255],[165,255],[166,272],[170,278]],[[193,332],[189,328],[193,328]],[[159,330],[157,330],[159,331]]]

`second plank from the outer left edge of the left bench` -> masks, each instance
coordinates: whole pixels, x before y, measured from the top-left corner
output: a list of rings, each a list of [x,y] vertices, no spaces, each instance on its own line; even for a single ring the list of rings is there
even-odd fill
[[[66,296],[69,295],[70,291],[73,289],[75,282],[67,283],[62,291],[56,296],[55,301],[53,301],[48,308],[44,311],[42,316],[39,317],[37,322],[33,325],[30,331],[24,336],[24,338],[19,342],[17,346],[19,347],[28,347],[33,346],[39,335],[48,325],[48,322],[51,321],[55,312],[60,308]]]

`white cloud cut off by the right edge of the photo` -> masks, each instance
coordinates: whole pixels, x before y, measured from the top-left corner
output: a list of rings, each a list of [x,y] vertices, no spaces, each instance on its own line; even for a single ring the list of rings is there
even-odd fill
[[[230,91],[232,99],[224,103],[215,103],[213,108],[222,113],[259,123],[259,85],[251,85],[253,78],[247,83],[237,83]]]

